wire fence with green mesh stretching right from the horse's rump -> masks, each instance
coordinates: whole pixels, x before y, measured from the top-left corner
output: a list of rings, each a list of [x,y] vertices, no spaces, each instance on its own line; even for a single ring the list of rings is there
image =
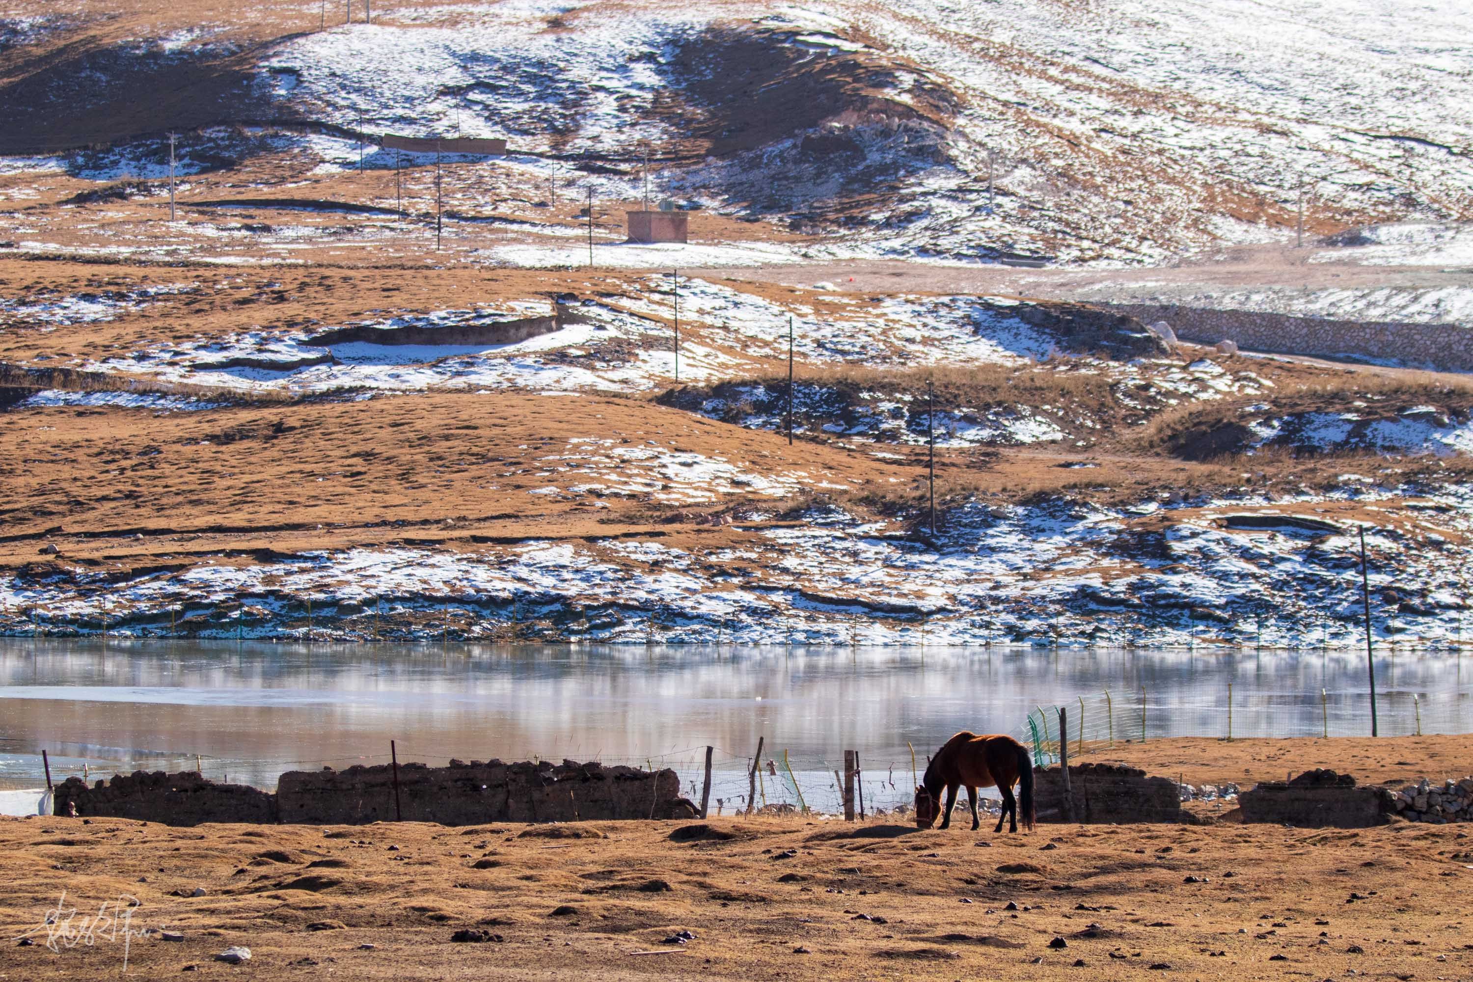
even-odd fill
[[[1059,732],[1064,710],[1068,733]],[[1380,736],[1473,732],[1473,690],[1407,692],[1376,695],[1376,732]],[[1183,702],[1153,701],[1147,689],[1102,690],[1074,702],[1038,705],[1015,736],[1033,748],[1034,763],[1058,763],[1059,742],[1069,754],[1097,752],[1119,743],[1167,736],[1370,736],[1371,698],[1367,692],[1233,693],[1226,686],[1215,698]]]

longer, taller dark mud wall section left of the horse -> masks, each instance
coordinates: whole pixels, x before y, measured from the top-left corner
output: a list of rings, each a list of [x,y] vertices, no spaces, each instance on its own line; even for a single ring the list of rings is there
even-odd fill
[[[405,822],[579,822],[688,819],[673,770],[563,761],[552,766],[451,761],[449,767],[399,766],[399,805]],[[281,822],[364,824],[393,822],[393,770],[387,764],[348,770],[293,770],[277,782]]]

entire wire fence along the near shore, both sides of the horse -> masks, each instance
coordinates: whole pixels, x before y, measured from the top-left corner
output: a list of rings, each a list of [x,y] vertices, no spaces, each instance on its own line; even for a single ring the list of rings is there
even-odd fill
[[[1062,720],[1066,726],[1061,732]],[[1449,692],[1380,692],[1376,698],[1376,723],[1382,736],[1420,736],[1433,733],[1473,732],[1473,689]],[[1013,735],[1033,749],[1037,766],[1059,760],[1061,741],[1068,741],[1069,757],[1108,752],[1111,748],[1142,741],[1198,736],[1217,739],[1240,738],[1327,738],[1370,736],[1371,705],[1365,692],[1309,692],[1234,695],[1233,686],[1223,688],[1211,698],[1181,701],[1152,698],[1149,689],[1100,690],[1077,696],[1072,702],[1037,705]],[[946,736],[946,735],[941,735]],[[13,741],[4,741],[13,742]],[[940,742],[940,738],[935,741]],[[709,814],[732,816],[748,810],[759,814],[809,813],[841,814],[844,810],[844,749],[813,754],[812,748],[794,754],[779,741],[767,743],[756,769],[753,755],[738,749],[711,748],[711,779]],[[368,748],[365,748],[368,749]],[[12,748],[0,760],[0,789],[34,789],[44,786],[41,755]],[[393,760],[387,741],[379,752],[340,757],[305,757],[302,760],[255,760],[246,757],[209,757],[196,754],[150,752],[127,760],[108,760],[94,748],[57,745],[50,748],[50,777],[60,783],[66,777],[106,779],[113,773],[133,770],[180,771],[199,770],[212,780],[249,783],[271,789],[289,770],[317,770],[352,766],[379,766]],[[904,813],[913,802],[915,785],[925,770],[927,754],[934,746],[903,749],[899,757],[890,751],[859,754],[854,771],[856,811],[868,816]],[[566,748],[557,755],[536,752],[471,754],[467,748],[420,743],[409,736],[398,741],[398,761],[443,766],[451,760],[552,760],[564,757],[604,766],[627,766],[642,770],[673,770],[681,782],[681,794],[700,805],[706,780],[706,746],[669,748],[658,754],[610,757],[580,746]],[[996,795],[997,792],[984,792]],[[996,805],[993,805],[996,810]]]

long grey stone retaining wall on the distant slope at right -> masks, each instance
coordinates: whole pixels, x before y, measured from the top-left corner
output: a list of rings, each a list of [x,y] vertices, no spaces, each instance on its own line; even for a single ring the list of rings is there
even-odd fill
[[[1332,321],[1262,311],[1212,311],[1174,303],[1100,303],[1146,324],[1165,321],[1186,342],[1286,355],[1361,355],[1473,371],[1473,330],[1457,324]]]

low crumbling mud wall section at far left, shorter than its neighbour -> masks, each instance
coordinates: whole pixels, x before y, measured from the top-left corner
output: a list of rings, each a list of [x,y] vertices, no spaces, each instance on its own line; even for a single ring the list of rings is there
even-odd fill
[[[68,777],[56,786],[53,814],[71,814],[77,805],[82,817],[138,819],[171,826],[203,822],[277,820],[275,796],[246,785],[217,785],[194,771],[165,774],[162,770],[113,774],[88,786],[81,777]]]

